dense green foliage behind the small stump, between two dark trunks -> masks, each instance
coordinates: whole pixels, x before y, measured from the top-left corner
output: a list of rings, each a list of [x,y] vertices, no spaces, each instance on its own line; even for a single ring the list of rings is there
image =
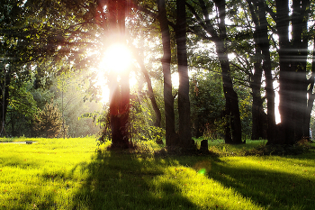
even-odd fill
[[[225,100],[220,75],[211,72],[198,72],[190,82],[190,100],[193,122],[193,135],[217,139],[223,133]]]

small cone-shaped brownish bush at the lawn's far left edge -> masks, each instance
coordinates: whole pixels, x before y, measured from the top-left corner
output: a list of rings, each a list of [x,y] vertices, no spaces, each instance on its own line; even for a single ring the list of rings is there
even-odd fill
[[[62,126],[62,118],[58,107],[51,101],[35,116],[33,130],[36,136],[54,138],[61,132]],[[67,131],[67,126],[65,126],[65,131]]]

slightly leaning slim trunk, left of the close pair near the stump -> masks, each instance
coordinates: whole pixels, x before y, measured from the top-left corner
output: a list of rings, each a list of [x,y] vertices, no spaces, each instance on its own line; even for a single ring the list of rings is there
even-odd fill
[[[166,117],[166,146],[176,146],[178,137],[175,133],[174,97],[172,95],[171,37],[168,29],[165,0],[157,0],[158,20],[162,33],[163,58],[162,68],[164,77],[164,103]]]

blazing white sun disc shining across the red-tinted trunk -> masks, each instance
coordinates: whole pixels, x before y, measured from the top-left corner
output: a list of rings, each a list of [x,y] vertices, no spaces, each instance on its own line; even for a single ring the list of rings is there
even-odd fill
[[[130,63],[130,50],[123,44],[115,43],[105,50],[100,68],[121,74],[130,68]]]

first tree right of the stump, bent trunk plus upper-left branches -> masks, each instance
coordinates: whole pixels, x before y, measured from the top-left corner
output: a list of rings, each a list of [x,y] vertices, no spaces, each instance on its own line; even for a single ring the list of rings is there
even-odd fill
[[[225,96],[225,142],[238,144],[242,143],[241,140],[241,123],[238,108],[238,94],[233,89],[233,82],[230,76],[230,65],[228,57],[228,34],[226,31],[226,3],[225,1],[215,0],[214,5],[218,11],[218,30],[215,29],[210,19],[210,6],[205,4],[203,0],[198,1],[202,11],[202,17],[196,12],[192,5],[188,8],[194,15],[198,27],[191,27],[193,32],[202,36],[203,39],[211,40],[215,43],[216,52],[220,61],[221,77],[223,81],[223,92]]]

